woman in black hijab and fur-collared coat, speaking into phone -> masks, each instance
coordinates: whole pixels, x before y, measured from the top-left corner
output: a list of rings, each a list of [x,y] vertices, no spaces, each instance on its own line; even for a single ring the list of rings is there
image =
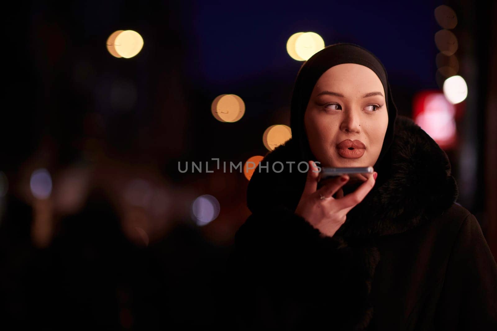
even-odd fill
[[[231,260],[240,330],[497,330],[479,223],[455,202],[446,154],[397,116],[373,54],[338,43],[305,62],[291,129],[248,185]],[[316,165],[375,175],[320,187]]]

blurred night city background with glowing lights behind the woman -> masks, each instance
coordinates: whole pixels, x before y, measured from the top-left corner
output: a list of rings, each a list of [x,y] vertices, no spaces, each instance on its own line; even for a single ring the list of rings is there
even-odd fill
[[[3,12],[3,326],[232,330],[226,261],[250,214],[250,173],[223,163],[256,163],[291,137],[298,70],[337,42],[383,62],[399,113],[446,151],[458,203],[497,255],[495,1],[17,1]]]

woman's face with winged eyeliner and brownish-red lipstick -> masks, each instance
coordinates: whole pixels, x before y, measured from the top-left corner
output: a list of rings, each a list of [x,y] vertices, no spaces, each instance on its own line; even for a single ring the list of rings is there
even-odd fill
[[[314,86],[304,122],[321,166],[373,166],[388,126],[380,79],[355,63],[331,67]]]

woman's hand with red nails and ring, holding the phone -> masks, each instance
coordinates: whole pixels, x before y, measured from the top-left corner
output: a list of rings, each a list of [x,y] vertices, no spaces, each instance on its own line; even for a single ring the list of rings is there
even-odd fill
[[[327,180],[327,183],[317,190],[318,167],[313,161],[309,161],[306,184],[295,213],[311,223],[314,228],[321,232],[323,237],[332,237],[345,223],[350,209],[361,202],[373,188],[376,182],[374,174],[376,171],[366,175],[368,177],[366,181],[352,193],[343,196],[341,186],[347,182],[349,176],[342,175]],[[333,198],[335,193],[336,197]],[[321,196],[325,198],[321,199]]]

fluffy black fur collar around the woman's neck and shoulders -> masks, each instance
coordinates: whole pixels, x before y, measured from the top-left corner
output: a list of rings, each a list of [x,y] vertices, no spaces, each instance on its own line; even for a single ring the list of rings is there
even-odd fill
[[[441,215],[457,200],[458,188],[445,152],[413,120],[397,116],[387,166],[376,168],[378,178],[368,195],[347,214],[336,233],[345,238],[371,238],[408,231]],[[306,173],[296,169],[302,160],[290,139],[268,153],[268,172],[256,168],[248,184],[248,208],[256,210],[283,205],[294,211],[300,200]],[[281,162],[285,171],[272,171]],[[286,162],[295,162],[292,172]],[[303,165],[302,169],[306,166]],[[281,165],[275,165],[276,170]]]

